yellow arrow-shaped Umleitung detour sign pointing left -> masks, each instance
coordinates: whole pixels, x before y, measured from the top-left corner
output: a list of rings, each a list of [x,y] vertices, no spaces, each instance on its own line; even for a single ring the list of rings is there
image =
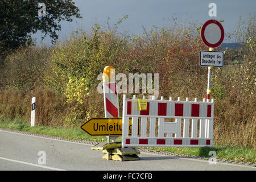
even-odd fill
[[[138,135],[139,135],[138,121]],[[80,127],[91,136],[121,136],[122,118],[92,118]],[[131,118],[129,118],[129,135],[131,135]]]

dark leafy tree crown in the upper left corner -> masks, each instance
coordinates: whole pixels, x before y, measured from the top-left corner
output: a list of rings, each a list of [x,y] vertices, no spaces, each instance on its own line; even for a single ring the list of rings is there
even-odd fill
[[[38,3],[42,2],[46,16],[40,18]],[[49,35],[53,43],[58,38],[56,31],[61,30],[60,21],[72,22],[72,16],[82,18],[72,0],[1,0],[0,52],[31,44],[31,35],[38,30],[44,34],[42,39]]]

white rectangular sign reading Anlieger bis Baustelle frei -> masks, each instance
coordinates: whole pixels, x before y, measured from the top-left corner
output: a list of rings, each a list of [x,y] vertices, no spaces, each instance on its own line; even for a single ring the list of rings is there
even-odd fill
[[[223,51],[200,51],[201,67],[223,67],[224,53]]]

